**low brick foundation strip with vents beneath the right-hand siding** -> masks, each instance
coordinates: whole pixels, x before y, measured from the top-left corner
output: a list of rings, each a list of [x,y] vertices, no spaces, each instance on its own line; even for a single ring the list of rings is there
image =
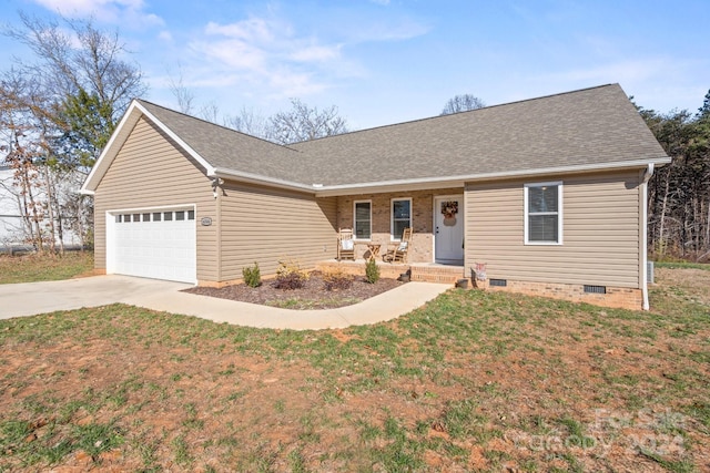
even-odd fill
[[[606,294],[585,292],[584,285],[528,282],[508,279],[506,287],[490,286],[489,280],[476,281],[476,287],[484,290],[518,292],[527,296],[549,297],[571,302],[587,302],[601,307],[641,310],[643,292],[641,289],[607,286]]]

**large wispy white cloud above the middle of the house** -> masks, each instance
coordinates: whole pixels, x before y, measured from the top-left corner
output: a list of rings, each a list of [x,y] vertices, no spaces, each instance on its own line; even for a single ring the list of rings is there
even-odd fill
[[[270,10],[240,21],[205,22],[196,33],[183,32],[191,34],[184,47],[175,34],[173,45],[185,66],[184,85],[195,88],[196,93],[220,88],[230,91],[230,100],[252,94],[275,102],[321,94],[367,75],[362,63],[346,56],[351,47],[405,40],[428,31],[407,19],[363,21],[366,31],[353,20],[334,23],[301,31],[301,23]]]

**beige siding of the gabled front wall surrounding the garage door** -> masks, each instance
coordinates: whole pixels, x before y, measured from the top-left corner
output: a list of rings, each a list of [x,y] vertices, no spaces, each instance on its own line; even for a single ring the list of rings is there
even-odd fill
[[[197,279],[216,280],[216,219],[211,182],[202,167],[156,126],[141,119],[94,194],[95,267],[105,269],[105,213],[113,209],[196,205]]]

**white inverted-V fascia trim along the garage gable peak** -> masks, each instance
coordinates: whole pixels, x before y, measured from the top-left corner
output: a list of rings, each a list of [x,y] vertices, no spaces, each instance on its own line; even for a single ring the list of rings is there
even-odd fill
[[[84,184],[81,186],[81,189],[80,189],[81,194],[85,194],[85,195],[94,194],[94,191],[99,185],[99,182],[101,182],[101,178],[103,177],[103,175],[106,173],[106,171],[109,171],[109,167],[111,166],[111,163],[115,158],[118,151],[121,148],[121,146],[123,145],[123,143],[125,143],[125,140],[128,138],[128,136],[120,138],[121,132],[126,126],[133,127],[140,120],[141,114],[146,116],[151,122],[158,125],[158,127],[161,128],[172,140],[174,140],[175,143],[180,145],[180,147],[185,150],[187,154],[190,154],[197,163],[200,163],[200,165],[204,167],[207,176],[214,175],[214,167],[210,163],[207,163],[196,151],[194,151],[190,145],[187,145],[187,143],[185,143],[180,136],[178,136],[172,130],[170,130],[163,122],[158,120],[155,115],[150,113],[148,109],[141,105],[139,101],[133,100],[128,111],[123,115],[123,119],[121,119],[121,121],[119,122],[119,125],[116,126],[115,131],[111,135],[109,143],[106,143],[106,146],[103,148],[103,152],[101,152],[101,155],[99,156],[99,160],[97,160],[97,163],[91,169],[91,173],[89,173],[87,181],[84,181]],[[119,142],[119,140],[121,141]]]

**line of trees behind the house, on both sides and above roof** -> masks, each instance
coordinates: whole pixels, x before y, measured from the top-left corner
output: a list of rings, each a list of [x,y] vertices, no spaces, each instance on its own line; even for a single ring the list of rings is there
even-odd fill
[[[118,33],[101,31],[91,21],[43,21],[21,14],[21,24],[2,33],[32,52],[0,72],[0,163],[12,169],[12,182],[0,186],[17,204],[18,232],[39,251],[62,251],[63,234],[70,230],[82,245],[91,245],[93,203],[78,189],[131,99],[148,91],[140,66],[130,61]],[[181,112],[220,121],[214,103],[195,107],[182,76],[170,86]],[[440,114],[483,106],[471,94],[456,95]],[[637,107],[672,157],[649,182],[651,256],[708,260],[710,92],[697,113]],[[291,110],[272,116],[242,109],[221,122],[278,144],[348,131],[336,106],[318,110],[298,99],[292,99]]]

